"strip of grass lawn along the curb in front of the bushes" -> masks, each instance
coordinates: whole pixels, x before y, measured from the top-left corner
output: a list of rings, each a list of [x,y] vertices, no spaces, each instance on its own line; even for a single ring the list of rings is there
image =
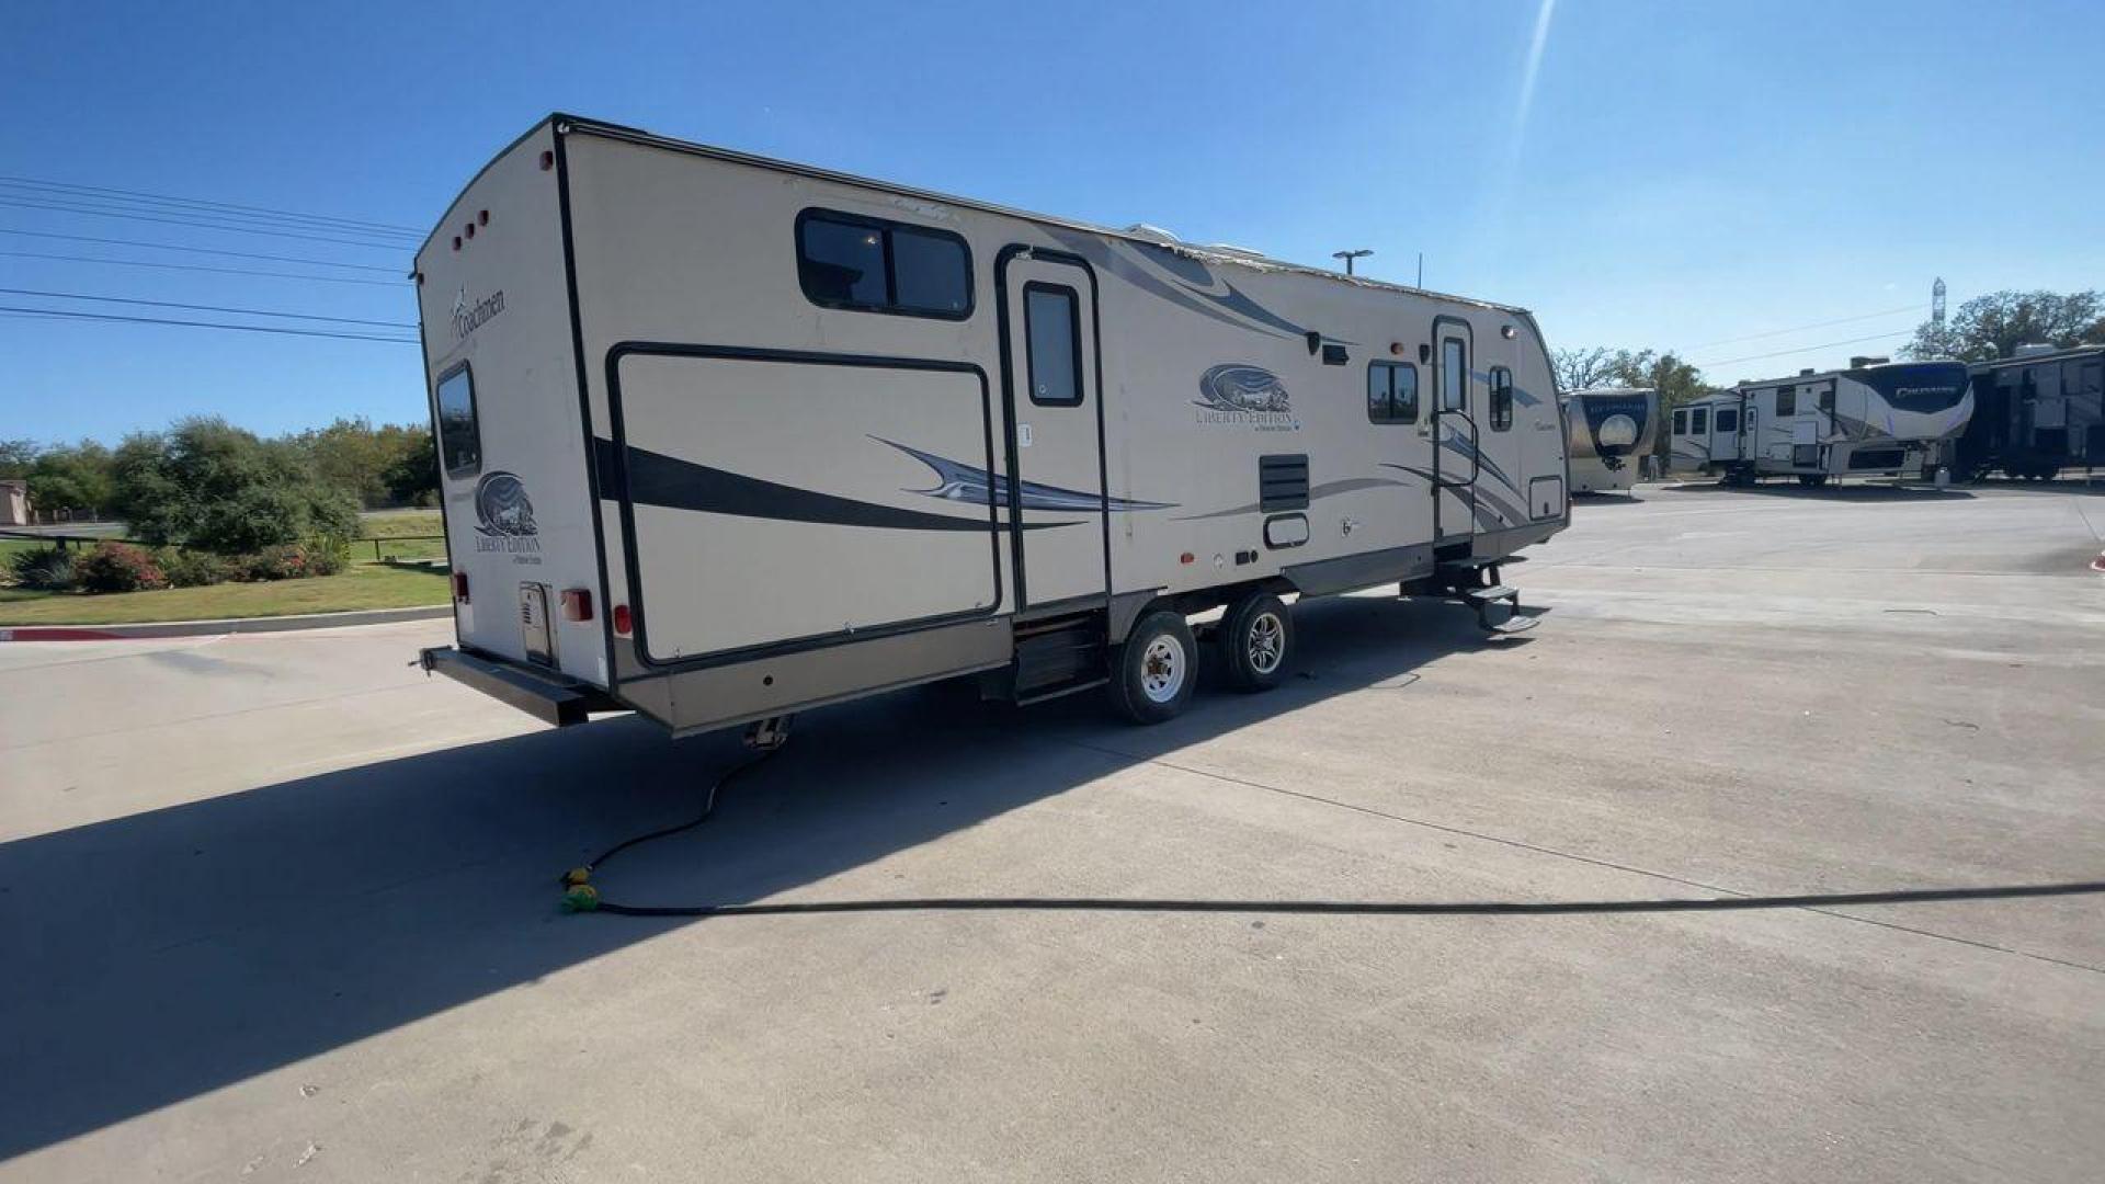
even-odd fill
[[[432,516],[434,522],[438,516]],[[213,584],[162,592],[27,592],[0,588],[0,626],[107,626],[118,621],[204,621],[215,617],[286,617],[352,609],[444,605],[450,579],[442,567],[354,565],[343,575],[269,584]]]

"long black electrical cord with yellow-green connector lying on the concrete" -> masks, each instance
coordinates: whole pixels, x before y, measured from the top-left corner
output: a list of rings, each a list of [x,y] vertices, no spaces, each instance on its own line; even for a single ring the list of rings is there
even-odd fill
[[[709,784],[701,813],[693,820],[623,838],[589,864],[562,874],[564,912],[610,912],[615,916],[815,916],[827,912],[1265,912],[1314,916],[1572,916],[1615,912],[1745,912],[1760,908],[1838,908],[1850,904],[1937,904],[1964,900],[2025,900],[2052,895],[2101,895],[2105,881],[2050,885],[1998,885],[1962,889],[1840,891],[1800,895],[1720,895],[1682,900],[1179,900],[1103,895],[964,895],[897,900],[808,900],[773,904],[619,904],[602,900],[592,874],[615,855],[686,834],[709,822],[724,788],[781,750],[773,744],[733,765]]]

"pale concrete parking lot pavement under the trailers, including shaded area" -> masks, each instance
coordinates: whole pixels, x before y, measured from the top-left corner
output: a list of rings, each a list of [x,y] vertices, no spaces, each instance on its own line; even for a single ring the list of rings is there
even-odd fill
[[[1299,609],[1164,727],[798,721],[610,897],[1625,902],[2105,879],[2105,495],[1659,487],[1486,640]],[[2097,895],[562,916],[735,737],[562,733],[442,621],[0,647],[0,1182],[2097,1180]]]

